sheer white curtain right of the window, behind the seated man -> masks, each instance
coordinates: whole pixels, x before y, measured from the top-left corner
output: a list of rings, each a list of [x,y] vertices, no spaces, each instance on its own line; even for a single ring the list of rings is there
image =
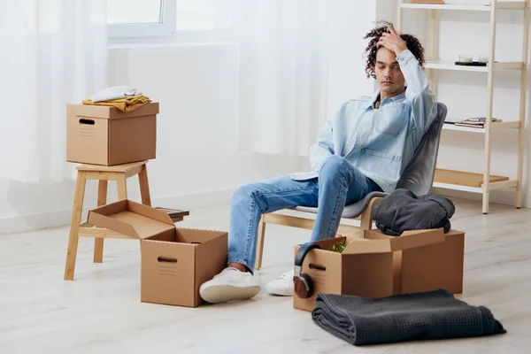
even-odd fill
[[[240,148],[304,156],[326,121],[328,2],[241,0]]]

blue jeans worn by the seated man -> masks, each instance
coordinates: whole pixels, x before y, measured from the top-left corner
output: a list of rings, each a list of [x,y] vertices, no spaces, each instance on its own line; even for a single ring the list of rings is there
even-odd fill
[[[318,207],[312,242],[335,237],[343,208],[380,187],[337,155],[327,158],[319,178],[292,181],[289,176],[250,183],[235,190],[228,229],[227,263],[255,266],[258,223],[262,214],[294,206]]]

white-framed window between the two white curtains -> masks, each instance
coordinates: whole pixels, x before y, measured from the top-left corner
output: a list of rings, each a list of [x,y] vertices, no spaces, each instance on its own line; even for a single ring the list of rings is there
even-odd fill
[[[107,0],[112,38],[219,37],[234,18],[235,0]]]

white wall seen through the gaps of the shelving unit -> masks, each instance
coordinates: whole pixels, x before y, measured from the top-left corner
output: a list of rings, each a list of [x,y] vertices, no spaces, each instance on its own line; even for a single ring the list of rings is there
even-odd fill
[[[453,0],[452,3],[471,4],[469,0]],[[481,0],[477,4],[482,4]],[[488,56],[489,12],[439,12],[440,42],[439,58],[455,60],[459,54]],[[419,37],[428,50],[430,43],[428,27],[429,12],[404,10],[403,32]],[[378,0],[379,19],[396,21],[396,1]],[[521,60],[522,47],[521,12],[499,12],[497,21],[496,60]],[[479,40],[478,40],[479,38]],[[504,121],[519,119],[519,72],[499,71],[495,74],[495,99],[493,115]],[[437,72],[438,100],[447,104],[449,117],[466,119],[486,114],[487,74],[464,72]],[[529,77],[527,78],[529,86]],[[527,103],[529,100],[527,99]],[[527,104],[527,117],[531,109]],[[516,131],[492,133],[491,173],[516,178],[517,138]],[[527,139],[530,134],[527,129]],[[443,131],[437,166],[475,173],[483,172],[484,135]],[[527,156],[529,149],[527,148]],[[528,165],[528,164],[527,164]],[[524,203],[531,205],[528,167],[524,176]],[[437,190],[454,196],[480,199],[480,194]],[[491,192],[491,201],[514,204],[514,189]]]

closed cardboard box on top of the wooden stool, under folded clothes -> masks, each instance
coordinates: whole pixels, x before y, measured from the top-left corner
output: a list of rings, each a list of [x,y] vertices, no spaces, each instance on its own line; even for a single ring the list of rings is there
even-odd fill
[[[158,103],[133,112],[117,108],[66,106],[66,161],[120,165],[156,158]]]

